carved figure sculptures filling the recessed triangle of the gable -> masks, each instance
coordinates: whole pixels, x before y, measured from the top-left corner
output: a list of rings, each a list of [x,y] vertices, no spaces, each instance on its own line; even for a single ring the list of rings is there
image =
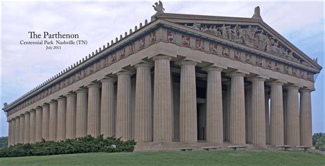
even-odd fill
[[[186,27],[213,34],[235,43],[247,45],[269,54],[274,54],[294,62],[304,64],[311,67],[310,64],[298,59],[298,55],[293,53],[290,49],[285,47],[274,36],[267,34],[258,26],[253,25],[214,25],[214,24],[200,24],[200,23],[186,23]]]

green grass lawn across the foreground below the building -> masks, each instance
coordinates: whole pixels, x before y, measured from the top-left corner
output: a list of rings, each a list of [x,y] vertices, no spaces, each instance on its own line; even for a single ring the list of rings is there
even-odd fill
[[[325,165],[325,156],[308,152],[193,151],[88,153],[0,158],[0,165]]]

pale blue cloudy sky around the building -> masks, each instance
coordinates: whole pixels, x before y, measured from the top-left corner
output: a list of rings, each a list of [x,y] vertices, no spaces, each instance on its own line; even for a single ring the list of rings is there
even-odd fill
[[[163,1],[165,12],[213,16],[251,17],[259,5],[263,21],[324,67],[323,2],[182,2]],[[1,99],[12,102],[38,84],[87,56],[98,47],[155,13],[154,1],[137,2],[2,2]],[[45,51],[44,46],[20,45],[27,32],[73,33],[88,40],[86,46]],[[313,132],[324,130],[324,71],[312,93]],[[0,113],[0,137],[8,123]]]

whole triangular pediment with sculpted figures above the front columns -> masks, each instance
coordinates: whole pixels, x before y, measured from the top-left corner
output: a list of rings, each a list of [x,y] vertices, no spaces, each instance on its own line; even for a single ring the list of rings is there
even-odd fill
[[[261,19],[169,13],[160,14],[157,18],[252,47],[317,71],[322,69],[317,61],[306,56]]]

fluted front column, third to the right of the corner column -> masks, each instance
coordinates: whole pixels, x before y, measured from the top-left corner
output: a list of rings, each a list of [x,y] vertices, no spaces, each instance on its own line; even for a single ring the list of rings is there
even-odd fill
[[[230,143],[245,144],[245,73],[231,73]]]

